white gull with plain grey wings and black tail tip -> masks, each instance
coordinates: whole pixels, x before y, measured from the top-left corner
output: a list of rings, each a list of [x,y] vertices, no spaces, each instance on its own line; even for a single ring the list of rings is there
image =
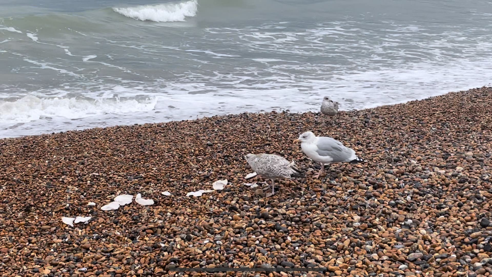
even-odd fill
[[[301,141],[301,149],[303,149],[304,154],[321,164],[319,173],[314,178],[318,178],[323,173],[325,164],[367,162],[355,155],[353,149],[345,147],[334,138],[316,137],[312,132],[308,131],[302,133],[299,139],[294,140],[294,142],[299,141]]]

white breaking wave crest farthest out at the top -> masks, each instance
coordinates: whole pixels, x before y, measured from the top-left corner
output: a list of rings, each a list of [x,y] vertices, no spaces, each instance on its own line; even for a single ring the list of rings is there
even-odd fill
[[[136,7],[113,8],[113,10],[126,17],[154,22],[185,21],[186,17],[196,15],[198,9],[197,0],[181,3],[168,3],[157,5],[142,5]]]

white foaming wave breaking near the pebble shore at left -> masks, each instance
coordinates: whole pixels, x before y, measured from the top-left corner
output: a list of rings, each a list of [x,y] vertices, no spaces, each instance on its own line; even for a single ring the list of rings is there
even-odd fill
[[[27,123],[44,117],[67,119],[85,118],[106,113],[132,113],[152,111],[155,99],[136,100],[118,98],[38,98],[27,95],[15,101],[0,100],[0,121],[3,123]]]

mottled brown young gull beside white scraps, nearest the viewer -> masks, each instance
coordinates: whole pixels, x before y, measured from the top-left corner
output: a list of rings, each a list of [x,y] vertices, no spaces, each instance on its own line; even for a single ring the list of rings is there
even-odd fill
[[[275,154],[247,154],[245,158],[258,175],[272,180],[272,194],[267,194],[267,197],[275,194],[275,179],[305,177],[297,166]]]

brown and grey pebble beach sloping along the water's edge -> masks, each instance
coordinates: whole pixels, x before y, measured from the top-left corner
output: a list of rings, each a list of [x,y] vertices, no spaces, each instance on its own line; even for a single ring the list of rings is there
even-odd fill
[[[491,106],[482,87],[340,111],[333,123],[319,112],[242,113],[0,139],[0,275],[492,276]],[[319,165],[293,143],[305,131],[368,163],[312,178]],[[245,179],[244,155],[261,152],[306,178],[279,180],[265,197],[265,180]],[[212,192],[186,196],[199,190]],[[101,210],[120,194],[154,204]],[[91,219],[62,222],[77,216]]]

